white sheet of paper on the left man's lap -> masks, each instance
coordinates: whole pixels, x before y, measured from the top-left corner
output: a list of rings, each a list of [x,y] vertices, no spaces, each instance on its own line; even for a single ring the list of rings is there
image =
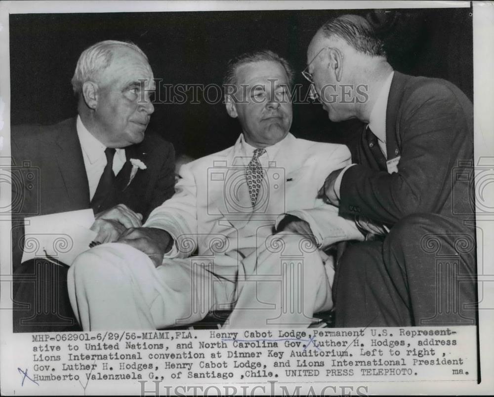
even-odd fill
[[[72,265],[77,255],[89,249],[96,232],[92,209],[59,212],[24,219],[25,241],[22,262],[51,257]]]

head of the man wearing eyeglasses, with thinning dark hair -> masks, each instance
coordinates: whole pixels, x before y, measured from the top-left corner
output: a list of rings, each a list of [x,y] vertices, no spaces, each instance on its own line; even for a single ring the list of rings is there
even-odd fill
[[[332,121],[367,120],[382,82],[392,70],[382,41],[358,15],[329,20],[307,49],[311,89]]]

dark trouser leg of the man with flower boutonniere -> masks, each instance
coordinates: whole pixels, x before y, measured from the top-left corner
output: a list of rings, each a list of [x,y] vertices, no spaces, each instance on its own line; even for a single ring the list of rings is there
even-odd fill
[[[70,305],[65,265],[36,258],[14,272],[13,331],[81,331]]]

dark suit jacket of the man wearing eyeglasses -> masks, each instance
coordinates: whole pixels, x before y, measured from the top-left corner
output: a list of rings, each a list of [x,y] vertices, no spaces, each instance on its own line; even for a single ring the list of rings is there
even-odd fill
[[[413,213],[461,221],[473,214],[473,107],[452,83],[395,72],[386,109],[388,160],[371,153],[366,134],[357,162],[344,173],[340,214],[364,215],[393,226]],[[458,177],[458,175],[460,177]],[[472,189],[472,190],[470,190]]]

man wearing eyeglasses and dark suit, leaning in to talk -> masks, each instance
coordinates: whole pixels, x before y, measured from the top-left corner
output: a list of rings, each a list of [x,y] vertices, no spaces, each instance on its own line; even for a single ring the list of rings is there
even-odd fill
[[[318,30],[303,75],[331,121],[367,124],[356,164],[320,191],[368,236],[338,264],[336,326],[474,324],[473,196],[454,178],[473,164],[471,102],[448,81],[393,71],[356,15]]]

